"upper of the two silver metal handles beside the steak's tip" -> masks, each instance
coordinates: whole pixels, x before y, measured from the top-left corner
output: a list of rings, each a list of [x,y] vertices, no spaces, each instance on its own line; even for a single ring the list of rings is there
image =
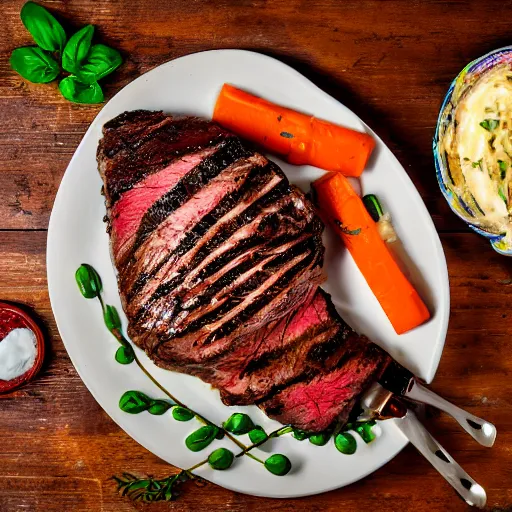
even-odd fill
[[[414,379],[413,386],[403,394],[404,398],[432,405],[449,414],[457,423],[482,446],[490,448],[496,439],[496,427],[488,421],[478,418],[473,414],[457,407],[444,398],[422,386]]]

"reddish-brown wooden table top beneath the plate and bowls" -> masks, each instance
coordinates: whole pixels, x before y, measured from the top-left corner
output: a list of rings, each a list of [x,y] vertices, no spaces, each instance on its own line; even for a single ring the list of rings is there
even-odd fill
[[[48,299],[46,228],[66,166],[101,106],[79,106],[56,84],[11,71],[13,48],[31,44],[19,11],[3,0],[0,30],[0,299],[25,304],[45,326],[39,378],[0,398],[0,510],[145,510],[117,496],[114,473],[166,476],[100,409],[76,374]],[[500,257],[449,210],[439,192],[431,140],[441,100],[470,60],[510,43],[512,2],[366,0],[53,0],[73,29],[92,23],[125,63],[106,80],[111,97],[167,60],[210,48],[246,48],[292,65],[353,109],[395,152],[440,233],[451,284],[451,319],[433,389],[499,431],[479,447],[446,417],[429,428],[487,490],[489,509],[512,511],[512,260]],[[460,511],[467,507],[407,447],[350,487],[300,500],[189,487],[148,510]]]

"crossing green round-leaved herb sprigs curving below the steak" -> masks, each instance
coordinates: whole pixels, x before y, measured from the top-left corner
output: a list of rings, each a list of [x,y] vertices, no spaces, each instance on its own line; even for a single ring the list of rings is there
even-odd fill
[[[121,496],[127,496],[132,500],[144,502],[171,501],[177,497],[177,491],[181,484],[198,478],[193,473],[195,469],[208,464],[214,470],[223,471],[229,469],[237,458],[244,455],[260,463],[270,473],[284,476],[292,469],[292,464],[286,455],[274,453],[265,460],[261,460],[250,452],[268,440],[286,434],[293,434],[293,437],[299,441],[309,439],[310,443],[316,446],[324,446],[333,437],[334,445],[338,451],[345,455],[352,455],[357,449],[355,438],[348,430],[357,432],[365,443],[370,443],[375,439],[375,434],[372,432],[375,421],[347,424],[341,432],[334,432],[334,434],[321,432],[313,435],[291,426],[283,426],[267,434],[261,426],[255,425],[247,414],[239,412],[232,414],[222,426],[215,425],[169,393],[142,365],[132,345],[122,333],[121,319],[116,308],[105,304],[103,301],[101,295],[103,285],[96,270],[91,265],[84,263],[75,272],[75,280],[83,297],[86,299],[98,299],[105,326],[121,344],[121,347],[118,348],[115,354],[116,361],[121,364],[135,362],[144,374],[170,399],[170,401],[155,399],[141,391],[130,390],[123,393],[119,399],[120,409],[128,414],[148,412],[151,415],[158,416],[170,410],[172,417],[176,421],[190,421],[195,417],[200,423],[203,423],[203,426],[193,431],[185,439],[185,445],[193,452],[200,452],[206,449],[215,439],[222,439],[224,436],[241,449],[235,455],[227,448],[217,448],[201,462],[163,479],[139,478],[127,472],[122,473],[121,476],[113,476],[112,478],[117,483],[117,490]],[[235,437],[241,435],[248,435],[252,444],[247,446]]]

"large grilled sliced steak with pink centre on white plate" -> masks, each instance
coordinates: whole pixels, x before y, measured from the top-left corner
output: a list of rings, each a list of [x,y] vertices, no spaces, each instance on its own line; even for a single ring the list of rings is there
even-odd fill
[[[283,172],[214,123],[126,112],[98,164],[128,333],[226,404],[317,432],[345,421],[387,355],[318,285],[323,225]]]

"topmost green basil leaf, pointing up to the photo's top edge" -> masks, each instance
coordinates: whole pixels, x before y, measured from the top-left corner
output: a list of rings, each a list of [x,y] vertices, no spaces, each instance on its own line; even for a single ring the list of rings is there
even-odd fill
[[[66,43],[66,33],[62,25],[44,7],[27,2],[21,9],[20,17],[34,41],[43,50],[62,51]]]

